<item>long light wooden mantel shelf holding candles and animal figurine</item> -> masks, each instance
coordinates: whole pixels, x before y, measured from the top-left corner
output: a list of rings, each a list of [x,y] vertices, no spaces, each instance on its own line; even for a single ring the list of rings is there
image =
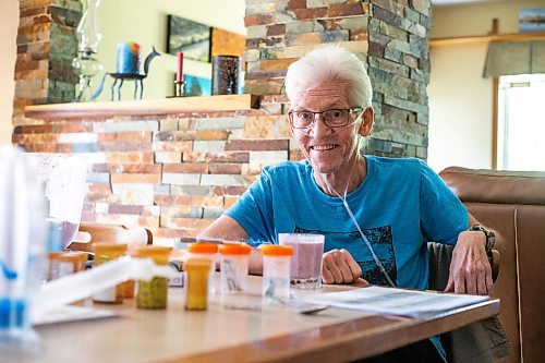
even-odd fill
[[[235,111],[257,108],[259,108],[259,97],[244,94],[105,102],[37,105],[25,107],[25,117],[44,120],[53,118],[109,118],[114,116]]]

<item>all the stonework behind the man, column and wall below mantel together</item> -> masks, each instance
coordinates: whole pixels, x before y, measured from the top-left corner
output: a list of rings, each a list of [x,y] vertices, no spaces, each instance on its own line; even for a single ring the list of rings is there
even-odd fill
[[[15,128],[29,152],[90,161],[83,220],[146,226],[159,243],[196,235],[263,166],[302,158],[290,140],[287,66],[340,43],[366,64],[375,129],[367,153],[426,157],[429,0],[246,0],[247,93],[259,110],[53,120]]]

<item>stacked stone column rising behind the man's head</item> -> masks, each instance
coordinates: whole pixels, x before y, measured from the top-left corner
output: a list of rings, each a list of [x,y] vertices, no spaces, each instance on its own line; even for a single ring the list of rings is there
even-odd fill
[[[425,159],[429,11],[429,0],[246,0],[245,89],[281,94],[291,62],[339,44],[368,65],[375,90],[365,152]]]

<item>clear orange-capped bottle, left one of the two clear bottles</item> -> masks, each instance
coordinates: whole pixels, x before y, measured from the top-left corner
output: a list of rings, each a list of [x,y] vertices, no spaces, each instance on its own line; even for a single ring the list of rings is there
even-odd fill
[[[226,243],[219,246],[221,293],[246,289],[247,261],[251,251],[252,247],[242,243]]]

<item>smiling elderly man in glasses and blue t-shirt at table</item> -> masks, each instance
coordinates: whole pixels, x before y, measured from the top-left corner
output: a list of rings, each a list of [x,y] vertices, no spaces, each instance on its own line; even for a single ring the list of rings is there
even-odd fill
[[[310,52],[289,68],[286,93],[290,131],[305,160],[265,168],[199,237],[258,244],[277,243],[278,233],[320,233],[325,283],[414,289],[427,288],[426,242],[456,244],[447,290],[488,293],[493,233],[424,162],[360,154],[374,110],[370,78],[354,55],[337,47]],[[251,271],[261,269],[256,252]]]

